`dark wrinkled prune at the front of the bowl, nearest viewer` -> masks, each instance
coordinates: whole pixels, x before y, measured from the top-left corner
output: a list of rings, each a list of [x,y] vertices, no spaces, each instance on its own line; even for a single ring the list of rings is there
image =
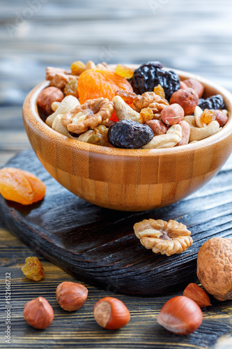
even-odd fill
[[[137,149],[153,139],[153,131],[148,125],[137,121],[122,120],[109,128],[109,143],[116,148]]]

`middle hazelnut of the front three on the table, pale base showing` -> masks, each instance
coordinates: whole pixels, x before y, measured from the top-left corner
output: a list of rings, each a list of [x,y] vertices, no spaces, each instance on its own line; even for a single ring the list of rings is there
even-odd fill
[[[93,316],[105,329],[119,329],[130,320],[130,312],[121,300],[114,297],[100,299],[93,307]]]

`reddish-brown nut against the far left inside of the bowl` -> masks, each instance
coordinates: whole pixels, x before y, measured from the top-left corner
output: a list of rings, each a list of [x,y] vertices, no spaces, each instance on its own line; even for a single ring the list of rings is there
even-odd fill
[[[61,89],[51,86],[43,89],[40,92],[40,94],[38,95],[37,103],[47,115],[50,115],[53,113],[51,107],[52,103],[55,101],[61,102],[63,98],[64,94]]]

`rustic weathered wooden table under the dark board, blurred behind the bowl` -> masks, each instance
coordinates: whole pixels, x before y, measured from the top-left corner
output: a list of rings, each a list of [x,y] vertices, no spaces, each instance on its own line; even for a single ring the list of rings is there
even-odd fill
[[[76,59],[109,64],[160,60],[164,66],[198,73],[232,91],[231,0],[2,0],[0,6],[0,165],[30,149],[22,103],[44,79],[46,66],[68,68]],[[56,303],[56,285],[77,279],[31,251],[1,221],[0,227],[1,279],[5,283],[10,273],[12,305],[8,344],[2,288],[0,348],[232,347],[231,302],[212,300],[212,307],[203,311],[203,325],[189,336],[171,334],[156,322],[170,295],[117,295],[130,309],[131,320],[116,332],[98,327],[92,313],[98,299],[114,296],[110,291],[86,285],[86,304],[66,313]],[[29,255],[37,255],[45,267],[40,283],[22,275]],[[44,331],[29,327],[23,319],[24,304],[39,295],[47,298],[55,313],[52,326]]]

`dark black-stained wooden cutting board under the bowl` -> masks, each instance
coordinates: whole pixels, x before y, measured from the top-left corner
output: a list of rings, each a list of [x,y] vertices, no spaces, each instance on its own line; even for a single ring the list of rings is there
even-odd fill
[[[232,237],[232,161],[185,200],[144,212],[113,211],[77,198],[48,174],[32,150],[18,154],[7,166],[36,174],[47,193],[29,206],[0,197],[6,228],[55,265],[99,288],[146,296],[183,289],[196,281],[203,242]],[[133,225],[148,218],[184,223],[192,232],[192,246],[171,257],[147,250]]]

